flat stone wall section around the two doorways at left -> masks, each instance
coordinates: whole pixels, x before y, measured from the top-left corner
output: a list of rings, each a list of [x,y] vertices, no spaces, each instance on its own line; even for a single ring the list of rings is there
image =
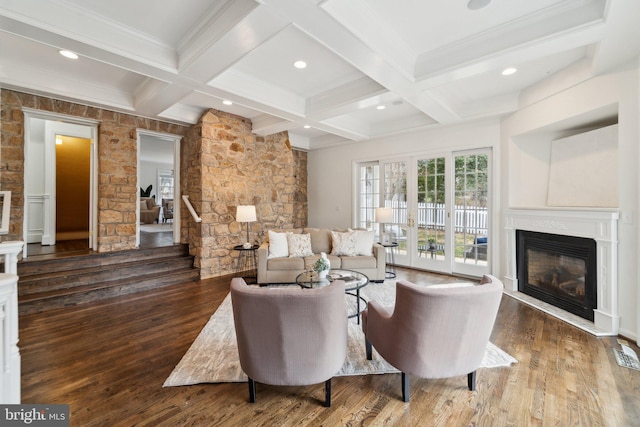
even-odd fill
[[[129,114],[3,89],[0,93],[0,175],[12,191],[11,226],[3,240],[22,240],[24,218],[24,114],[22,108],[100,121],[98,126],[98,251],[134,249],[136,242],[136,129],[185,135],[188,128]]]

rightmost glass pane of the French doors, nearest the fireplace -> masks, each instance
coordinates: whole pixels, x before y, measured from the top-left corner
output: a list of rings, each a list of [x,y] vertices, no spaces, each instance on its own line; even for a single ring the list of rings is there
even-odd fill
[[[455,161],[454,269],[487,270],[489,248],[489,155],[458,155]],[[466,268],[466,269],[465,269]],[[478,274],[480,271],[475,271]]]

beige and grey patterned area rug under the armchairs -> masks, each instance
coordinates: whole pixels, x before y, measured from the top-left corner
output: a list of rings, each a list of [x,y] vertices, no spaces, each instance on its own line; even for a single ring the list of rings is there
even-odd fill
[[[395,302],[395,282],[370,284],[362,289],[367,301],[376,300],[384,305]],[[346,296],[347,304],[353,302]],[[350,307],[352,309],[353,307]],[[369,375],[399,372],[396,368],[373,352],[373,360],[367,360],[364,349],[364,334],[356,319],[349,320],[347,358],[336,376]],[[489,343],[481,368],[509,366],[516,359]],[[247,376],[240,368],[236,332],[233,325],[231,295],[227,295],[218,310],[211,316],[182,360],[164,383],[164,387],[201,383],[246,382]]]

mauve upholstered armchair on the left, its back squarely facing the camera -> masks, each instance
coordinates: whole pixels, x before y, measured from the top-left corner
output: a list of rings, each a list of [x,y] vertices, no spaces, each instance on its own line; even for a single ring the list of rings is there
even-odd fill
[[[249,401],[255,383],[325,383],[331,406],[331,378],[347,354],[344,282],[322,288],[260,288],[241,278],[231,281],[231,303],[240,366],[249,377]]]

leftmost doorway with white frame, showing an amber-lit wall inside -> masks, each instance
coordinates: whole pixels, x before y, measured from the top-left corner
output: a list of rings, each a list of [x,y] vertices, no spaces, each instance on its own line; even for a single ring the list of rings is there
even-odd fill
[[[23,112],[23,256],[97,250],[98,122]]]

